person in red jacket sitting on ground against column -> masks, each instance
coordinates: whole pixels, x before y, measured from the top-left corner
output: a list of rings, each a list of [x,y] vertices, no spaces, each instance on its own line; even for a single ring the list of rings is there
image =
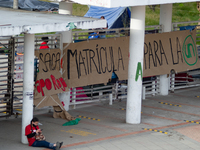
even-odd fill
[[[62,146],[63,142],[57,142],[55,143],[49,143],[45,140],[43,141],[37,141],[35,136],[38,133],[42,133],[41,129],[38,126],[39,123],[39,119],[34,117],[31,120],[31,123],[29,125],[26,126],[25,128],[25,135],[27,136],[28,142],[29,142],[29,146],[33,146],[33,147],[46,147],[49,149],[53,149],[53,150],[59,150],[60,147]]]

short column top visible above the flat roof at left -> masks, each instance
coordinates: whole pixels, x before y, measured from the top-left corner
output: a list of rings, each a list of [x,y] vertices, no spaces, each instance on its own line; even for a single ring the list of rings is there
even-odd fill
[[[58,13],[59,14],[68,14],[71,15],[72,14],[72,2],[59,2],[59,10]]]

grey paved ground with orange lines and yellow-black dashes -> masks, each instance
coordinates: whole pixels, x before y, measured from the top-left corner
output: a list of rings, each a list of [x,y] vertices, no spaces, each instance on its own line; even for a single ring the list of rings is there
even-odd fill
[[[149,97],[142,104],[142,122],[125,123],[126,102],[88,104],[70,110],[78,125],[36,110],[47,141],[63,141],[62,150],[197,150],[200,149],[200,87],[168,96]],[[21,144],[21,117],[0,119],[0,150],[44,150]]]

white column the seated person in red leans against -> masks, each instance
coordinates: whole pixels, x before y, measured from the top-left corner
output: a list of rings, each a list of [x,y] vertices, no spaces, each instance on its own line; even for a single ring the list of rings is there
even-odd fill
[[[33,90],[34,90],[34,34],[24,35],[24,85],[22,106],[22,136],[23,144],[28,144],[25,127],[33,118]]]

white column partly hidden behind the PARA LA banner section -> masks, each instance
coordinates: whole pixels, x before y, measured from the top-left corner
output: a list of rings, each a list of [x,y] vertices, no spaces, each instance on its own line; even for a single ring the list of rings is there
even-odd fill
[[[160,24],[163,25],[163,32],[172,30],[172,4],[160,5]],[[160,94],[168,95],[169,77],[167,74],[160,75]]]

